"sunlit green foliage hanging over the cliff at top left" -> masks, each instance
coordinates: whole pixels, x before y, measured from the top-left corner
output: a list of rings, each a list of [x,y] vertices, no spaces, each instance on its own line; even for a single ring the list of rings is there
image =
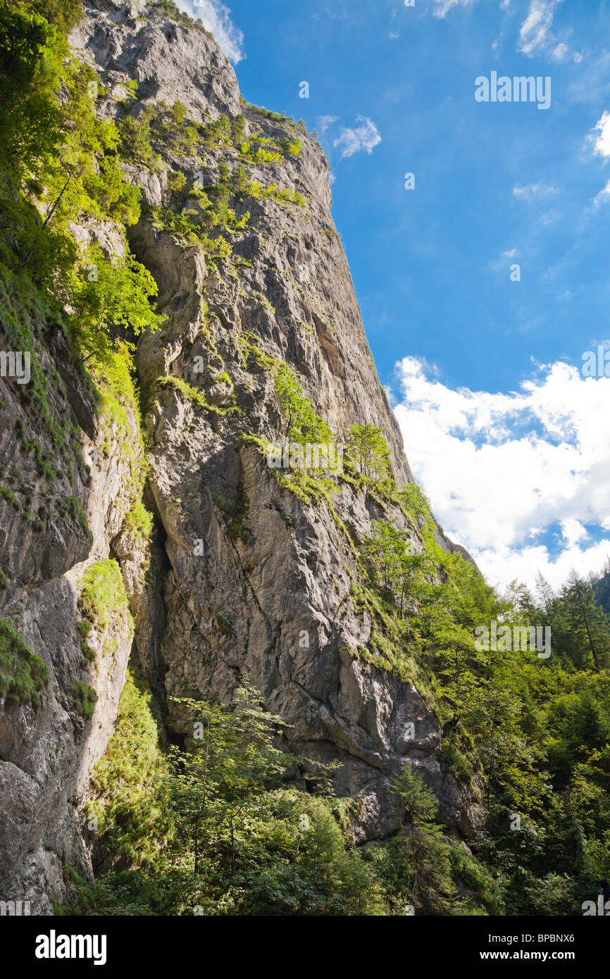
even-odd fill
[[[34,4],[45,15],[48,7]],[[125,225],[139,216],[139,191],[120,169],[117,127],[95,113],[97,74],[80,65],[67,45],[64,30],[76,13],[74,4],[61,3],[53,18],[58,29],[24,4],[10,12],[0,5],[0,31],[10,36],[0,74],[7,82],[9,75],[12,79],[0,107],[0,136],[5,137],[0,138],[5,176],[0,273],[11,340],[20,341],[16,349],[31,351],[32,381],[23,397],[33,401],[56,447],[67,462],[75,460],[86,481],[78,433],[71,424],[62,426],[50,408],[49,383],[39,367],[30,324],[63,320],[73,359],[80,353],[105,379],[109,372],[117,376],[117,360],[130,367],[128,349],[113,339],[116,331],[126,329],[136,337],[157,328],[164,317],[150,304],[157,295],[154,280],[133,256],[108,258],[99,246],[83,250],[71,234],[71,222],[94,218],[113,222],[124,235]],[[59,376],[52,383],[63,391]],[[23,445],[36,452],[42,472],[55,475],[38,443],[23,438]]]

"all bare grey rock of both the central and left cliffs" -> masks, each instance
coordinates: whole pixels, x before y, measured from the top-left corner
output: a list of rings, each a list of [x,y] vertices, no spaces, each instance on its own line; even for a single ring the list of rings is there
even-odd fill
[[[146,579],[141,546],[122,523],[128,480],[112,447],[103,457],[96,449],[100,436],[86,396],[73,394],[66,410],[88,432],[90,483],[78,494],[93,540],[69,521],[32,545],[20,526],[3,523],[1,560],[13,582],[8,611],[50,666],[51,679],[41,714],[12,707],[0,721],[0,792],[8,814],[0,848],[9,854],[0,893],[32,899],[45,912],[62,894],[61,865],[87,864],[75,807],[112,733],[130,645],[124,617],[115,624],[113,663],[103,662],[95,682],[89,679],[99,698],[93,721],[76,723],[63,698],[81,655],[76,582],[84,567],[109,555],[122,570],[140,661],[163,696],[197,691],[227,703],[251,681],[285,721],[286,746],[303,757],[303,770],[307,760],[340,763],[335,786],[353,797],[359,842],[395,827],[389,780],[405,760],[424,772],[446,823],[468,835],[477,805],[439,764],[442,732],[434,712],[414,686],[358,654],[369,642],[371,620],[353,597],[353,541],[371,536],[372,521],[388,517],[421,550],[417,528],[407,527],[398,507],[384,512],[347,481],[332,502],[306,502],[283,489],[257,445],[242,438],[282,437],[285,419],[265,368],[281,361],[340,441],[354,423],[377,426],[392,450],[397,482],[412,479],[331,216],[330,168],[321,148],[294,123],[240,102],[235,74],[211,35],[174,23],[143,0],[88,0],[71,43],[99,72],[106,116],[117,114],[126,83],[137,80],[134,115],[159,100],[179,100],[196,122],[243,114],[247,132],[275,143],[298,137],[302,150],[247,164],[250,181],[277,185],[289,199],[271,192],[233,202],[238,219],[250,216],[235,231],[229,257],[214,259],[178,240],[152,210],[132,229],[131,246],[157,280],[167,315],[137,352],[140,382],[151,395],[147,499],[160,528]],[[188,191],[198,180],[216,183],[220,163],[233,172],[242,163],[228,145],[197,145],[189,158],[164,148],[162,157],[164,165],[155,168],[126,167],[150,209],[168,206],[168,171],[184,174]],[[303,206],[294,203],[301,200],[296,195]],[[11,410],[10,392],[3,397]],[[2,461],[18,466],[5,435],[14,421],[3,419]],[[137,445],[135,433],[133,440]],[[452,549],[440,529],[439,539]],[[168,704],[170,727],[186,733],[187,719]],[[414,736],[407,735],[409,724]]]

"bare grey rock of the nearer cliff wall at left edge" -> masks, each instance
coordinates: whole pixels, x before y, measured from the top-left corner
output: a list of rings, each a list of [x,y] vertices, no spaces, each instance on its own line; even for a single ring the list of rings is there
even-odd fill
[[[61,376],[61,346],[47,338],[38,350],[45,373]],[[0,460],[4,481],[8,476],[15,488],[5,488],[9,493],[0,500],[0,565],[7,578],[0,618],[49,671],[38,710],[16,697],[0,705],[0,894],[29,901],[31,913],[51,913],[53,897],[64,893],[64,865],[90,874],[77,804],[113,733],[132,637],[125,604],[104,634],[92,629],[90,659],[83,657],[81,582],[87,568],[109,558],[128,507],[128,472],[116,434],[98,429],[84,391],[76,404],[81,384],[75,372],[67,373],[66,388],[50,402],[56,424],[66,431],[81,426],[85,466],[79,469],[74,460],[60,473],[41,471],[40,457],[61,468],[58,446],[35,409],[23,408],[15,383],[0,380]],[[131,438],[137,446],[133,420]],[[38,445],[38,456],[28,443]],[[97,698],[93,717],[82,702],[86,690]]]

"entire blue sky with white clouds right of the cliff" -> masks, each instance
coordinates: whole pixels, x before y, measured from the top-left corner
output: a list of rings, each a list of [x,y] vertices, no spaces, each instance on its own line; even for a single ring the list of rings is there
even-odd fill
[[[597,570],[610,379],[581,366],[610,338],[610,2],[179,6],[250,102],[319,133],[369,343],[447,532],[493,583]],[[550,107],[477,102],[492,71],[550,77]]]

